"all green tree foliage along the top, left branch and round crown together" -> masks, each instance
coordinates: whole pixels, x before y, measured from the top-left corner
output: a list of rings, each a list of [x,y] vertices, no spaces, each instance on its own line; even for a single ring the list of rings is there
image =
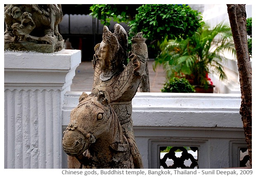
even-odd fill
[[[204,24],[201,13],[188,5],[92,5],[90,15],[102,24],[113,21],[130,26],[129,35],[143,32],[143,37],[155,47],[167,39],[187,38]]]

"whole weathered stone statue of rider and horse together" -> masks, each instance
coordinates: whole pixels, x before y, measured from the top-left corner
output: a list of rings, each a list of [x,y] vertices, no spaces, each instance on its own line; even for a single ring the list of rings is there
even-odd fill
[[[80,96],[79,104],[71,112],[71,122],[64,132],[63,147],[69,155],[69,168],[143,168],[135,142],[131,115],[132,99],[145,75],[148,53],[142,33],[137,33],[131,41],[132,51],[127,54],[128,36],[124,28],[116,24],[114,33],[111,33],[107,26],[104,26],[102,42],[94,48],[92,92],[90,95],[83,92]],[[127,57],[129,62],[125,66],[123,63]],[[89,106],[88,103],[92,102],[92,99],[94,101],[91,104],[96,106]],[[92,111],[92,107],[97,107],[96,111]],[[98,107],[105,111],[98,112]],[[104,125],[107,130],[101,128],[102,131],[99,133],[100,130],[97,132],[87,127],[84,132],[81,131],[81,127],[84,127],[84,124],[91,124],[92,120],[95,124],[102,121],[97,127]],[[111,120],[112,123],[105,122],[107,120]],[[113,123],[113,120],[116,123]],[[73,132],[85,138],[79,140],[79,136]],[[114,138],[108,137],[113,136],[109,135],[110,132],[118,132],[118,135],[114,135]],[[98,134],[104,136],[97,136]],[[88,142],[90,145],[84,148],[80,145],[82,142]],[[107,147],[104,149],[102,146]]]

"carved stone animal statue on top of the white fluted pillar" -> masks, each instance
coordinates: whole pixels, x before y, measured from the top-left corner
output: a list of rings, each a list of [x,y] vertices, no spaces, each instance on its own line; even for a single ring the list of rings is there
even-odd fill
[[[5,50],[51,53],[64,49],[61,5],[6,5]]]

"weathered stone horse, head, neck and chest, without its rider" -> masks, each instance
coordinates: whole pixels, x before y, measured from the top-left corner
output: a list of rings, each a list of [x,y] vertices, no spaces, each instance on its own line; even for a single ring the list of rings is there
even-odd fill
[[[130,146],[104,91],[97,97],[83,92],[71,111],[62,145],[80,168],[134,168]]]

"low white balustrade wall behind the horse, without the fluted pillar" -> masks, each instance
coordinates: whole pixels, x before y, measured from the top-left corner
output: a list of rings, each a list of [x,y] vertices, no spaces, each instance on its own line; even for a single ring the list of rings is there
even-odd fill
[[[65,94],[63,130],[81,94]],[[238,167],[239,148],[246,147],[240,104],[240,94],[138,92],[132,118],[144,167],[159,168],[161,146],[198,147],[199,168]]]

